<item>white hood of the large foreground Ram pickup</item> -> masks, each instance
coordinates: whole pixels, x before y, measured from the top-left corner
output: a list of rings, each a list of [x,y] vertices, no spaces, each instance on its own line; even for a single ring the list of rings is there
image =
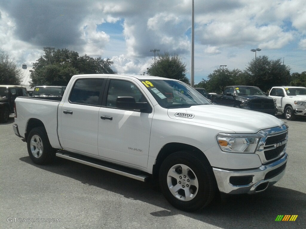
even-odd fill
[[[168,115],[173,119],[221,127],[235,133],[257,133],[261,129],[284,124],[273,115],[221,105],[168,109]]]

